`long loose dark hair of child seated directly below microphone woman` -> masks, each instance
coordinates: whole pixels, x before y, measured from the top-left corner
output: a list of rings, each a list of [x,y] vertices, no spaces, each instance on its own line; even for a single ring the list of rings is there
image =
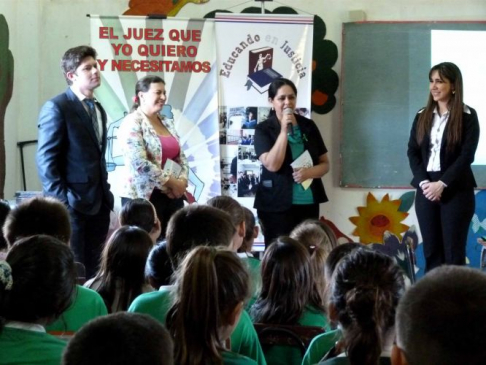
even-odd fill
[[[307,249],[296,240],[281,236],[265,251],[261,264],[262,289],[251,309],[254,322],[297,324],[312,303],[312,268]]]

